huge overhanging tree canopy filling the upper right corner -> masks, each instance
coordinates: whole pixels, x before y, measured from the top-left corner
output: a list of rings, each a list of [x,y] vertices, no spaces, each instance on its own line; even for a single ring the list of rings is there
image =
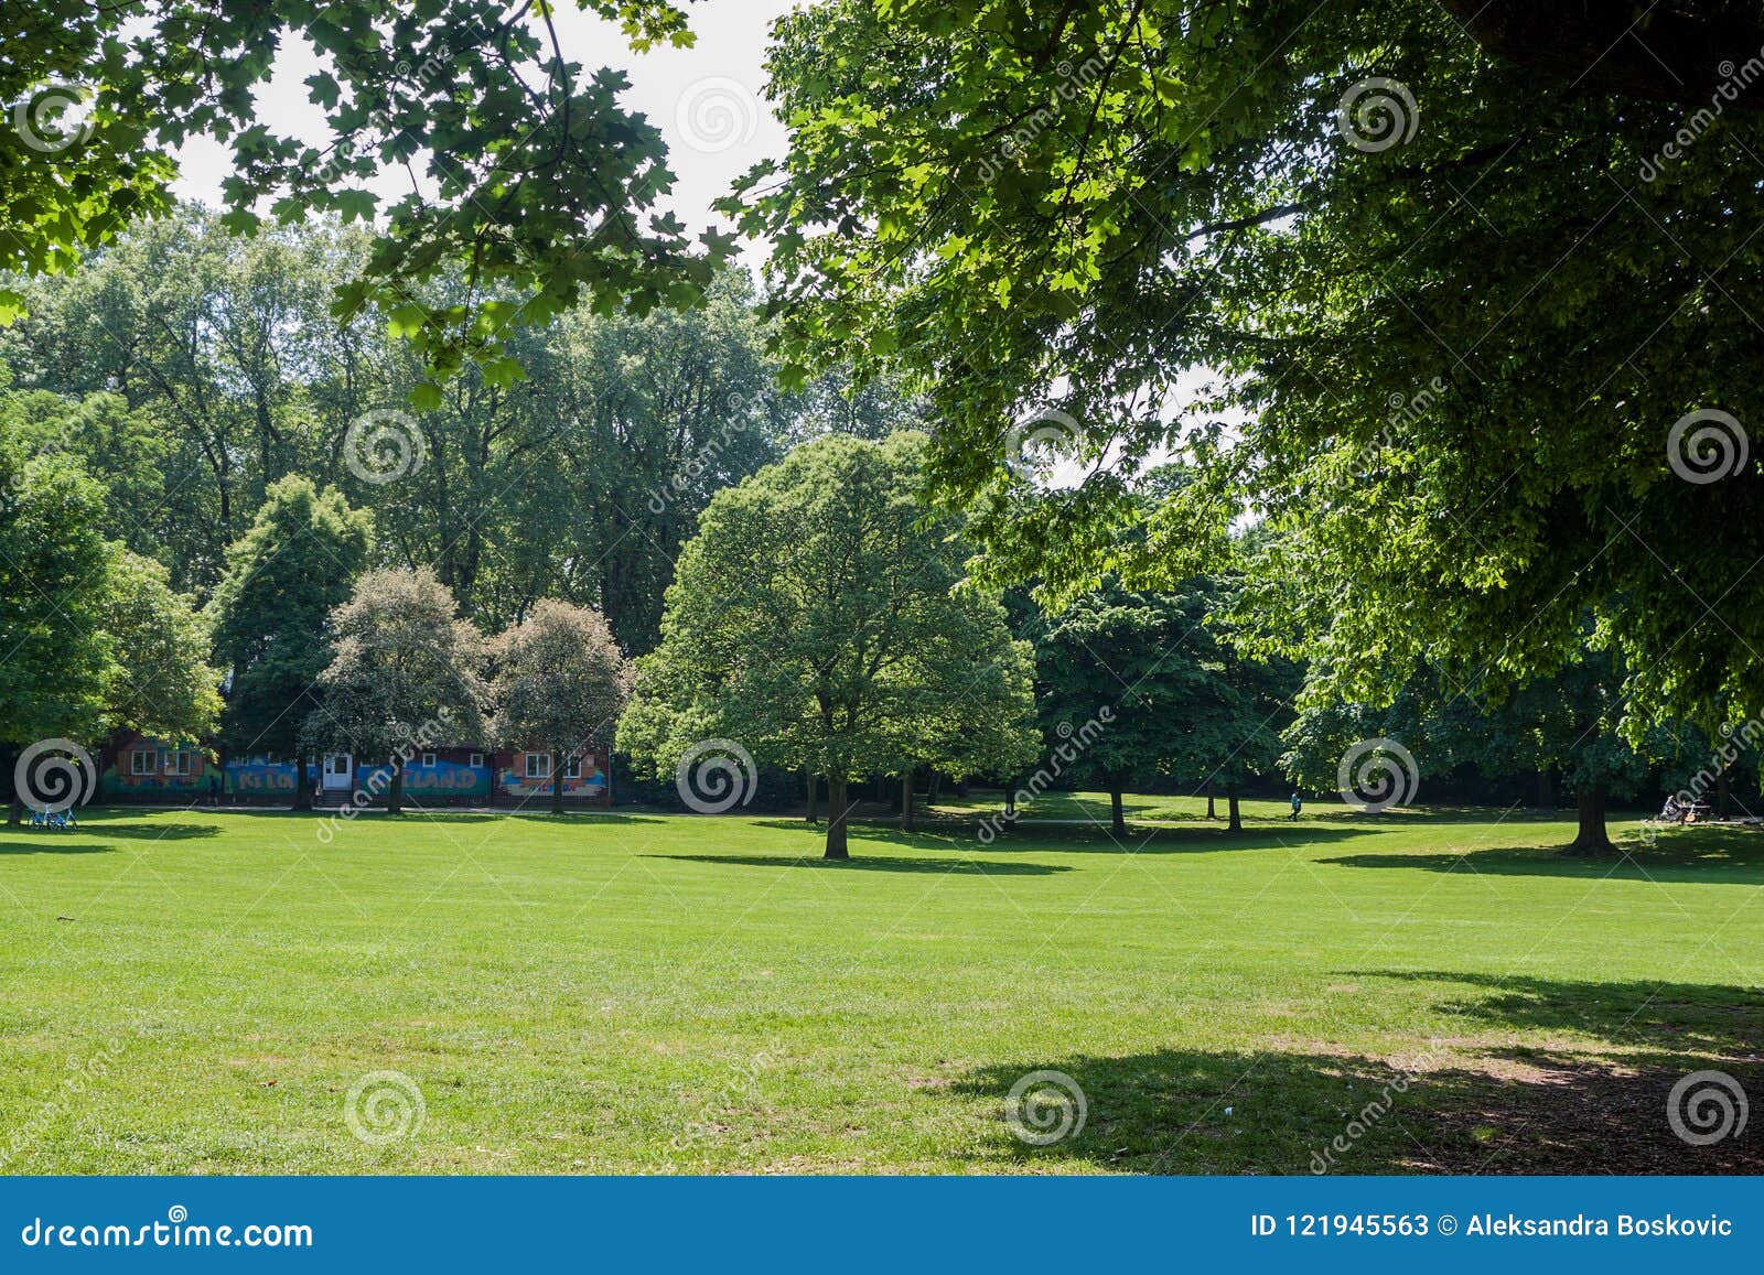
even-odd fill
[[[1415,658],[1549,677],[1593,614],[1632,735],[1739,720],[1764,14],[1646,9],[799,11],[790,153],[746,192],[783,353],[923,386],[944,490],[1055,587],[1185,578],[1249,504],[1282,533],[1258,610],[1346,697]],[[1034,413],[1095,466],[1060,499],[1004,466]],[[1143,513],[1178,437],[1200,481]]]

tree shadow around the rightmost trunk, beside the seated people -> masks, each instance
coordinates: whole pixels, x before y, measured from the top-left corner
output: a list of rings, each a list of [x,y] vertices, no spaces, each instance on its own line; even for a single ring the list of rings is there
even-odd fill
[[[1648,846],[1618,838],[1618,854],[1579,859],[1559,845],[1498,846],[1462,854],[1355,854],[1318,862],[1339,868],[1411,868],[1434,873],[1480,873],[1485,876],[1584,876],[1653,882],[1702,882],[1716,885],[1764,884],[1764,831],[1674,829]]]

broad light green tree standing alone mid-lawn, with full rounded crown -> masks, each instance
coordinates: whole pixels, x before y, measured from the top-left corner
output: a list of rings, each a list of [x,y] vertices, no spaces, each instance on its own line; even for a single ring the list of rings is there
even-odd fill
[[[824,774],[829,859],[848,857],[852,779],[1034,757],[1028,645],[963,582],[958,527],[919,506],[921,451],[916,434],[827,437],[718,492],[639,663],[621,749],[667,771],[730,739]]]

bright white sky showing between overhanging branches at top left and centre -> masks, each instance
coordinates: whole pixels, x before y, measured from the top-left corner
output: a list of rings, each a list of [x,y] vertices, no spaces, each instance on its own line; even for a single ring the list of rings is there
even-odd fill
[[[688,7],[699,42],[690,49],[658,48],[632,53],[617,25],[584,14],[561,0],[554,21],[564,56],[584,72],[617,67],[632,81],[623,102],[662,129],[674,169],[674,194],[662,205],[693,235],[706,226],[725,226],[711,213],[711,201],[729,194],[734,180],[760,159],[781,157],[783,125],[760,97],[766,85],[766,42],[774,18],[794,0],[697,0]],[[309,101],[302,83],[319,69],[305,44],[288,44],[275,76],[258,90],[259,118],[273,130],[312,143],[328,138],[325,116]],[[208,205],[220,203],[220,180],[233,171],[231,152],[215,141],[198,139],[180,152],[183,175],[176,192]],[[381,196],[409,190],[399,169],[374,185]],[[746,252],[757,265],[757,250]]]

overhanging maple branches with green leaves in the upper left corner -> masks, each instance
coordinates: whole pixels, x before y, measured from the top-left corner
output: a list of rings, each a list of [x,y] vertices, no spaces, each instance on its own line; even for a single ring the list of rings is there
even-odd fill
[[[669,0],[579,5],[617,19],[637,49],[691,42]],[[716,233],[695,250],[677,219],[654,212],[672,187],[660,130],[619,106],[619,72],[563,56],[543,5],[164,0],[143,14],[48,0],[5,14],[0,95],[23,120],[0,146],[5,270],[62,272],[164,213],[173,153],[191,138],[231,146],[228,229],[259,229],[261,203],[284,226],[314,212],[377,217],[372,252],[335,305],[377,303],[439,374],[467,358],[513,374],[501,347],[510,324],[579,300],[639,314],[690,303],[729,250]],[[277,49],[300,41],[321,58],[305,83],[332,134],[323,150],[256,108]],[[367,183],[388,166],[411,173],[411,194],[379,208]],[[467,291],[425,303],[437,279]],[[21,305],[18,291],[0,293],[7,314]],[[434,386],[413,402],[434,406]]]

